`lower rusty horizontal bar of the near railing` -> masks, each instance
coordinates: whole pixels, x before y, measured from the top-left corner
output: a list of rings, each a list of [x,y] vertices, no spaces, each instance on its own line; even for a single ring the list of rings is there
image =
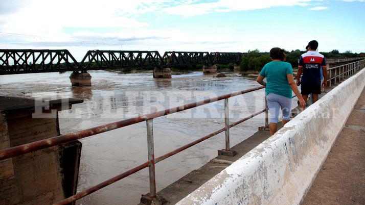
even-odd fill
[[[243,119],[241,119],[241,120],[239,120],[237,122],[234,122],[234,123],[230,124],[230,128],[233,127],[233,126],[236,126],[237,124],[240,124],[240,123],[242,123],[242,122],[244,122],[244,121],[246,121],[246,120],[248,120],[250,118],[253,118],[253,117],[255,117],[255,116],[257,116],[257,115],[259,115],[261,113],[264,113],[265,110],[266,109],[261,110],[261,111],[259,111],[257,113],[254,113],[254,114],[252,114],[250,116],[247,116],[247,117],[245,117],[245,118],[243,118]],[[217,135],[217,134],[219,134],[219,133],[221,133],[223,131],[225,131],[225,127],[223,127],[222,129],[219,129],[219,130],[217,130],[217,131],[215,131],[215,132],[213,132],[213,133],[211,133],[209,135],[206,135],[204,137],[201,137],[201,138],[199,138],[199,139],[197,139],[197,140],[195,140],[195,141],[193,141],[193,142],[191,142],[189,144],[186,144],[184,146],[181,146],[181,147],[179,147],[179,148],[177,148],[177,149],[175,149],[173,151],[170,151],[170,152],[166,153],[163,156],[160,156],[160,157],[156,158],[155,161],[154,161],[154,163],[156,164],[158,162],[161,162],[162,160],[165,160],[165,159],[167,159],[167,158],[175,155],[176,153],[178,153],[180,151],[183,151],[183,150],[185,150],[185,149],[187,149],[187,148],[189,148],[189,147],[191,147],[191,146],[193,146],[195,144],[198,144],[198,143],[200,143],[200,142],[202,142],[204,140],[207,140],[207,139],[209,139],[209,138],[211,138],[211,137],[213,137],[213,136],[215,136],[215,135]],[[131,174],[133,174],[133,173],[135,173],[137,171],[140,171],[140,170],[142,170],[142,169],[144,169],[146,167],[148,167],[148,162],[145,162],[145,163],[143,163],[143,164],[141,164],[141,165],[139,165],[137,167],[134,167],[133,169],[130,169],[130,170],[126,171],[126,172],[123,172],[123,173],[115,176],[115,177],[112,177],[109,180],[106,180],[106,181],[104,181],[104,182],[102,182],[102,183],[100,183],[98,185],[95,185],[95,186],[90,187],[90,188],[88,188],[88,189],[86,189],[84,191],[81,191],[81,192],[79,192],[79,193],[77,193],[77,194],[75,194],[73,196],[70,196],[69,198],[63,199],[63,200],[57,202],[56,204],[57,205],[61,205],[61,204],[67,204],[67,203],[71,203],[73,201],[76,201],[77,199],[80,199],[80,198],[82,198],[82,197],[84,197],[86,195],[89,195],[89,194],[91,194],[91,193],[93,193],[95,191],[98,191],[99,189],[102,189],[102,188],[104,188],[104,187],[106,187],[106,186],[108,186],[108,185],[110,185],[112,183],[115,183],[115,182],[117,182],[119,180],[122,180],[122,178],[125,178],[125,177],[127,177],[127,176],[129,176],[129,175],[131,175]]]

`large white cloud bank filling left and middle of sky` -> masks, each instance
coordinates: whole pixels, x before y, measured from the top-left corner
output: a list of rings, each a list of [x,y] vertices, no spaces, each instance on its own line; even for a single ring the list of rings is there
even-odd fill
[[[192,16],[216,12],[248,11],[273,7],[326,8],[337,1],[311,0],[0,0],[0,47],[87,49],[161,49],[203,51],[269,50],[267,32],[251,28],[237,32],[241,24],[218,22],[197,25]],[[352,0],[338,0],[352,1]],[[358,0],[356,2],[363,2]],[[350,4],[350,3],[349,3]],[[270,11],[268,11],[270,12]],[[252,21],[264,23],[263,21]],[[235,22],[232,22],[234,24]],[[190,26],[191,24],[191,26]],[[286,27],[283,27],[286,30]],[[271,29],[271,30],[270,30]],[[276,39],[287,49],[298,48],[303,37]],[[4,34],[4,33],[12,34]],[[208,35],[207,35],[208,33]],[[14,35],[26,34],[26,35]],[[327,35],[327,34],[326,34]],[[305,37],[305,36],[304,36]],[[296,39],[300,39],[296,40]],[[290,43],[289,43],[290,42]],[[83,50],[83,51],[81,51]]]

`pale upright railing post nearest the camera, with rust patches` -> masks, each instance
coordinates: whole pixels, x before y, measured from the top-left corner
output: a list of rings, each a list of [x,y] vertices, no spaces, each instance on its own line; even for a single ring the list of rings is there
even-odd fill
[[[154,172],[154,148],[153,148],[153,119],[147,123],[147,149],[148,149],[148,171],[150,178],[150,197],[156,197],[156,181]]]

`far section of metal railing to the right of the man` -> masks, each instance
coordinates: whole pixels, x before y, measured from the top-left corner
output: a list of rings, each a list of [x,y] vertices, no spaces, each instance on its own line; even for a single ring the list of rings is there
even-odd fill
[[[327,68],[327,84],[329,84],[329,87],[331,87],[332,81],[334,84],[336,84],[341,80],[345,80],[346,78],[348,78],[348,76],[353,75],[355,72],[357,72],[359,69],[362,69],[363,67],[365,67],[365,60]]]

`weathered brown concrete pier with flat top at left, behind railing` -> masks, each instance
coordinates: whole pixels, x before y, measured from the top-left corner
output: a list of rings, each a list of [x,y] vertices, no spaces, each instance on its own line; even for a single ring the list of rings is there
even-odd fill
[[[62,101],[67,101],[63,107]],[[57,110],[69,109],[75,102],[82,100],[51,100],[47,105],[55,109],[55,116],[33,118],[44,103],[0,97],[0,148],[60,135]],[[76,192],[80,150],[81,143],[72,142],[0,161],[0,204],[50,204]]]

